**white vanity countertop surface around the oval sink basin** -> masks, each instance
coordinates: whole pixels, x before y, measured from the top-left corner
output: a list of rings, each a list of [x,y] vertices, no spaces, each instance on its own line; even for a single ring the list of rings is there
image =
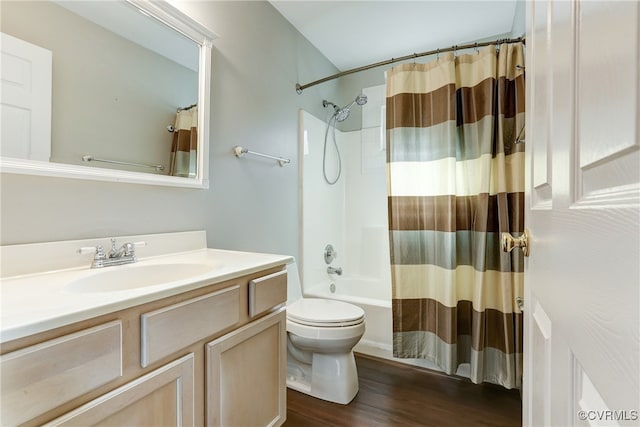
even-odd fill
[[[6,277],[0,284],[0,342],[22,338],[117,310],[223,282],[292,262],[286,255],[197,249],[139,258],[135,264],[91,269],[89,265],[64,270]],[[184,280],[109,292],[76,292],[74,280],[109,269],[153,264],[206,264],[211,270]]]

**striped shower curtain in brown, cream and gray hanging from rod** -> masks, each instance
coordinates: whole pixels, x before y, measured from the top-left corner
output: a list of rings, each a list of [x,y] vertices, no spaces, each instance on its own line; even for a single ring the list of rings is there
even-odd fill
[[[522,44],[403,64],[387,77],[395,357],[520,387],[524,230]]]

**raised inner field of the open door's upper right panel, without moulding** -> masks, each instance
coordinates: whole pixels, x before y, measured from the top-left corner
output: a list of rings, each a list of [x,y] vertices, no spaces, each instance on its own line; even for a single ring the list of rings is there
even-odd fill
[[[582,1],[576,9],[578,152],[585,170],[638,148],[638,4]]]

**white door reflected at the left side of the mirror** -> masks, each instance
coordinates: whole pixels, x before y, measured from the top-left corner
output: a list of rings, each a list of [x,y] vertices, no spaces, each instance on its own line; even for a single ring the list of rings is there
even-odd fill
[[[0,33],[0,156],[51,157],[50,50]]]

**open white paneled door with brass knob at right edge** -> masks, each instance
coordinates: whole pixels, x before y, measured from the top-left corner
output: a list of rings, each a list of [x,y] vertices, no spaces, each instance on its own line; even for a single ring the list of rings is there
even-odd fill
[[[639,3],[527,7],[524,425],[639,425]]]

